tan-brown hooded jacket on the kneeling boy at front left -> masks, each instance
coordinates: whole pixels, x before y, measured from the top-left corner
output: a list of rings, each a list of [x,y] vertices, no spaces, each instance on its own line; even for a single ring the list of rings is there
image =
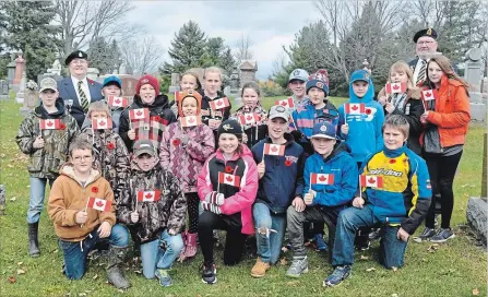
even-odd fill
[[[116,223],[114,203],[110,212],[87,209],[88,219],[80,225],[74,222],[78,212],[83,211],[88,198],[102,198],[114,202],[114,192],[108,181],[97,169],[92,169],[83,187],[74,177],[73,165],[67,163],[61,167],[60,176],[55,180],[49,193],[48,213],[55,223],[56,235],[66,241],[81,241],[103,222]]]

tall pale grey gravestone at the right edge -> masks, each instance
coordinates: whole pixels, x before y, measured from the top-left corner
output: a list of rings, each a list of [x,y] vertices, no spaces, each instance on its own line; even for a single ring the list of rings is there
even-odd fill
[[[466,52],[466,67],[464,79],[471,84],[469,87],[469,107],[472,120],[486,120],[486,104],[480,93],[483,76],[483,52],[479,48],[472,48]]]

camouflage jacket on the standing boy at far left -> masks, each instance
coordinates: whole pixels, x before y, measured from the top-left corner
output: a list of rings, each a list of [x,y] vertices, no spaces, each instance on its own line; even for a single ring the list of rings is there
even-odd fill
[[[29,155],[27,170],[31,177],[55,179],[59,169],[67,162],[68,148],[72,140],[80,133],[76,120],[66,112],[61,98],[56,100],[57,112],[48,114],[43,105],[37,106],[21,123],[15,141],[22,153]],[[41,119],[59,119],[57,130],[40,130]],[[34,148],[33,143],[43,135],[44,147]]]

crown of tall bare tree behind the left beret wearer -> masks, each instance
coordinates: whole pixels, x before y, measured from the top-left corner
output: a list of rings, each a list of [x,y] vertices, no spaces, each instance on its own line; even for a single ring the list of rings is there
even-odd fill
[[[55,0],[58,15],[55,19],[62,27],[63,52],[83,47],[96,37],[130,35],[132,27],[121,26],[121,19],[134,7],[129,1],[76,1]],[[110,40],[110,38],[106,38]]]

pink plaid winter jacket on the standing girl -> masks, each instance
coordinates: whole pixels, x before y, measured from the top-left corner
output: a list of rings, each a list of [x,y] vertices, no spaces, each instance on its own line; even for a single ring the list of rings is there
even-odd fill
[[[188,143],[181,139],[188,136]],[[197,192],[197,178],[203,163],[215,151],[214,133],[206,124],[182,128],[180,122],[166,127],[159,147],[163,168],[180,181],[185,193]]]

